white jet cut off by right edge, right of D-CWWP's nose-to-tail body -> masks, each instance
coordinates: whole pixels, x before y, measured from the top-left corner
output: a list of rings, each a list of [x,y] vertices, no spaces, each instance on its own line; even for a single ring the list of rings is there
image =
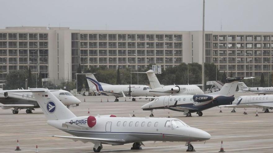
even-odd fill
[[[236,112],[235,108],[262,108],[262,111],[269,113],[269,109],[273,109],[273,95],[240,96],[231,105],[220,105],[219,107],[233,108],[231,112]]]

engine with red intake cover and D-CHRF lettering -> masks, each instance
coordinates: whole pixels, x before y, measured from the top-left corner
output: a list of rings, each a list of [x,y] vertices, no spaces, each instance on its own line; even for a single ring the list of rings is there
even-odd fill
[[[67,120],[65,124],[74,128],[92,128],[96,125],[96,118],[93,116],[74,117]]]

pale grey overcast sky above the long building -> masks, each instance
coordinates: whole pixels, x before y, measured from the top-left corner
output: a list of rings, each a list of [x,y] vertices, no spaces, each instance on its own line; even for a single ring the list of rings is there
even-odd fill
[[[0,28],[202,30],[203,0],[1,0]],[[206,0],[205,30],[272,32],[273,0]]]

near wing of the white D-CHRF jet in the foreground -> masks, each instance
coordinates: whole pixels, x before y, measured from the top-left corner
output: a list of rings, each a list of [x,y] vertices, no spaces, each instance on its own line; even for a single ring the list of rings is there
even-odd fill
[[[100,143],[108,143],[112,145],[117,145],[117,144],[124,144],[125,140],[123,139],[110,139],[110,138],[89,138],[89,137],[73,137],[73,136],[52,136],[52,137],[57,137],[57,138],[65,138],[65,139],[71,139],[73,141],[81,141],[83,143],[87,142],[92,142],[95,145],[100,144]]]

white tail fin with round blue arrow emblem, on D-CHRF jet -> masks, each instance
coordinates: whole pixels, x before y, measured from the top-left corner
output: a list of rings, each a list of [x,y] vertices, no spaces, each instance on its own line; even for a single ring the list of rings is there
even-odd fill
[[[31,88],[30,90],[47,117],[47,120],[62,120],[76,117],[48,89]]]

